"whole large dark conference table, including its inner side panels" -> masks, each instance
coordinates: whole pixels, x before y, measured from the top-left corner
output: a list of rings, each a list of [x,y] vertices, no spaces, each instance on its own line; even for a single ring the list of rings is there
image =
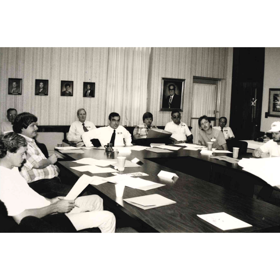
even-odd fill
[[[58,162],[58,165],[76,179],[82,174],[109,177],[113,174],[92,174],[88,171],[80,172],[71,169],[71,167],[81,166],[73,160],[116,159],[118,156],[125,156],[127,160],[138,158],[143,163],[141,167],[125,167],[125,170],[118,174],[144,172],[149,176],[143,176],[142,179],[161,183],[164,186],[148,191],[125,187],[122,198],[116,197],[115,184],[109,182],[89,185],[87,191],[100,195],[104,204],[109,205],[114,213],[123,214],[128,220],[135,222],[134,225],[139,232],[278,232],[280,230],[279,207],[252,198],[251,181],[265,184],[264,181],[242,171],[238,164],[202,155],[200,150],[191,151],[183,148],[170,153],[154,153],[149,150],[132,150],[131,153],[107,152],[100,149],[83,150],[82,154],[63,154],[66,160]],[[232,154],[219,153],[218,155]],[[165,179],[157,176],[161,170],[176,173],[178,178]],[[222,186],[225,184],[224,176],[226,179],[232,178],[235,183],[233,185],[229,183],[229,187]],[[212,183],[213,181],[217,181],[220,185]],[[176,204],[144,210],[123,201],[126,198],[150,194],[160,194],[176,201]],[[223,231],[197,216],[220,212],[230,214],[249,223],[252,227]]]

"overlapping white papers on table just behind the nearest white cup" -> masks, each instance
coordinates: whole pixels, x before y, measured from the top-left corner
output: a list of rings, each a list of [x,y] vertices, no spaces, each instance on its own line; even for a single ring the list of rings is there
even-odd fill
[[[127,176],[126,174],[120,174],[116,176],[103,178],[103,180],[115,184],[122,184],[130,188],[144,191],[164,186],[164,184],[154,183],[152,181],[144,180],[141,178],[132,178],[130,176]]]

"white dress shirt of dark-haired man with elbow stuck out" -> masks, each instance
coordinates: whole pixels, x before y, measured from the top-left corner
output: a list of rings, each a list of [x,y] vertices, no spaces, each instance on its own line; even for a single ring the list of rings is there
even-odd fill
[[[85,132],[82,135],[83,142],[86,147],[92,147],[90,139],[99,139],[102,146],[110,143],[114,129],[109,125],[105,127],[99,127],[97,129]],[[125,143],[124,143],[125,141]],[[131,134],[122,125],[119,125],[116,129],[115,145],[114,146],[124,146],[131,145]]]

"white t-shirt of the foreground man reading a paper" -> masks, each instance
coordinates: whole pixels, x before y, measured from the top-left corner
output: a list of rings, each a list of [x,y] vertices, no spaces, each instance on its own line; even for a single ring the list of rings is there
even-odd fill
[[[50,205],[50,201],[36,193],[20,176],[18,167],[0,166],[0,199],[4,202],[8,216],[16,216],[26,209],[37,209]]]

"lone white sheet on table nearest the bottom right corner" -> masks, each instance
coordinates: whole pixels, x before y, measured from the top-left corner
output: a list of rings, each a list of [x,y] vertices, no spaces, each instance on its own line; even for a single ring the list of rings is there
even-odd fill
[[[220,228],[221,230],[230,230],[235,228],[252,227],[252,225],[245,223],[225,212],[197,215],[204,221],[211,225]]]

